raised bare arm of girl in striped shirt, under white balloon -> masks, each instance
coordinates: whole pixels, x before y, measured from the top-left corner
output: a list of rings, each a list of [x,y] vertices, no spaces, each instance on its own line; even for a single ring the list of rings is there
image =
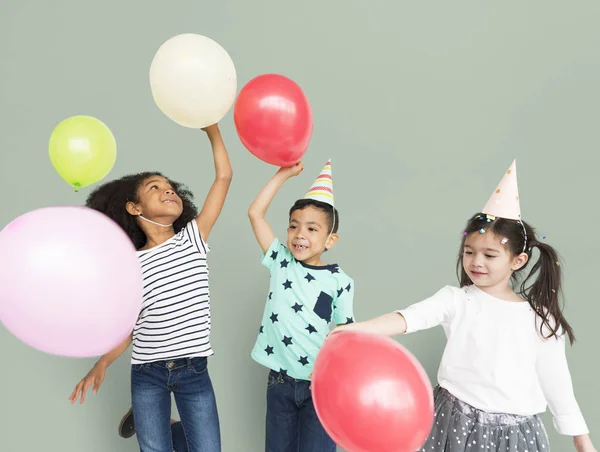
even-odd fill
[[[221,137],[219,126],[217,124],[209,126],[205,131],[212,146],[215,162],[215,181],[210,187],[208,195],[206,195],[202,210],[196,217],[196,224],[198,225],[202,239],[207,241],[210,231],[217,222],[225,204],[225,198],[229,192],[229,186],[233,177],[233,170],[231,169],[231,162],[229,161],[229,155]]]

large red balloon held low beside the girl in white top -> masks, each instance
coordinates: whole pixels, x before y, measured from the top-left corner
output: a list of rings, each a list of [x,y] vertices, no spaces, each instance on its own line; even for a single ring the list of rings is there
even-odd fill
[[[349,452],[414,452],[433,425],[433,389],[417,359],[395,340],[332,333],[312,373],[317,415]]]

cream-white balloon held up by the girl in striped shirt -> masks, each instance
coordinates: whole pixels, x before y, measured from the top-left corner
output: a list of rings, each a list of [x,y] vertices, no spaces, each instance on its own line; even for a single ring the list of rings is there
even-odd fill
[[[150,65],[150,88],[158,108],[185,127],[216,124],[237,93],[237,74],[227,51],[193,33],[166,41]]]

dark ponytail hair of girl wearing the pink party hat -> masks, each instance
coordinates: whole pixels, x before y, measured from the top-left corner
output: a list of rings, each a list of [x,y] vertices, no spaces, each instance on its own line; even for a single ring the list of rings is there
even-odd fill
[[[535,229],[522,220],[507,220],[488,216],[483,213],[474,215],[468,222],[463,232],[461,247],[458,253],[456,271],[461,287],[473,284],[471,278],[463,267],[463,249],[465,240],[469,234],[491,231],[499,237],[506,238],[505,243],[510,254],[518,256],[526,253],[527,263],[513,272],[511,283],[513,290],[523,299],[529,302],[531,308],[542,319],[540,333],[546,338],[558,337],[565,332],[571,344],[575,342],[573,328],[563,315],[562,308],[562,271],[560,258],[554,248],[544,242],[540,242],[536,236]],[[525,268],[532,262],[532,250],[537,248],[539,258],[531,267],[525,278],[520,278]],[[519,279],[521,283],[519,285]],[[544,330],[550,331],[544,335]]]

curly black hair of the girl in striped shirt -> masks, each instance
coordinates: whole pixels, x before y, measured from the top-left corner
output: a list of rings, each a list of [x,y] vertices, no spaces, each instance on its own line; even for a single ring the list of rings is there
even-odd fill
[[[102,212],[111,220],[115,221],[129,236],[135,249],[140,249],[146,244],[146,234],[139,226],[137,219],[127,212],[125,206],[128,202],[138,202],[138,190],[149,177],[165,177],[158,172],[144,172],[130,174],[120,179],[107,182],[96,188],[88,196],[85,205],[91,209]],[[173,187],[173,190],[181,198],[183,212],[173,223],[175,233],[181,231],[186,224],[198,215],[198,209],[193,203],[194,195],[185,186],[165,177]]]

